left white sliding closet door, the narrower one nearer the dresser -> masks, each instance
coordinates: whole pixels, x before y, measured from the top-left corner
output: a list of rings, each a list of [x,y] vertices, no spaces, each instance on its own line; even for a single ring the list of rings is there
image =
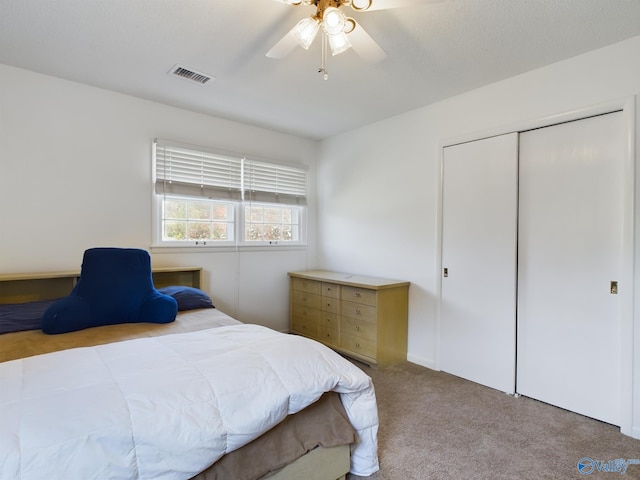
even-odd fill
[[[444,149],[440,366],[515,388],[517,134]]]

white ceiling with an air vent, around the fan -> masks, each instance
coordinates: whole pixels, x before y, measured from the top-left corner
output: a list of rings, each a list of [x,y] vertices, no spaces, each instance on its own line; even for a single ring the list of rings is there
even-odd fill
[[[0,0],[0,63],[322,139],[640,35],[640,0],[417,3],[349,9],[388,58],[330,57],[327,81],[318,40],[265,57],[314,13],[273,0]]]

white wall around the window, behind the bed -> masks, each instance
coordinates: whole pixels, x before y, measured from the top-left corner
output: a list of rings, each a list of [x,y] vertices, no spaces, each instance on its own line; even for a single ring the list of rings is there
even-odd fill
[[[154,266],[202,266],[227,313],[287,329],[286,272],[315,263],[317,142],[5,65],[0,273],[77,270],[95,246],[149,250],[154,137],[309,166],[308,249],[152,253]]]

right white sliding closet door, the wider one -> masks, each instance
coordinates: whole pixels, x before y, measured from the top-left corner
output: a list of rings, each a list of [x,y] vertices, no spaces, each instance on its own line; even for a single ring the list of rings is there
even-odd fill
[[[623,132],[618,112],[520,137],[517,391],[616,425]]]

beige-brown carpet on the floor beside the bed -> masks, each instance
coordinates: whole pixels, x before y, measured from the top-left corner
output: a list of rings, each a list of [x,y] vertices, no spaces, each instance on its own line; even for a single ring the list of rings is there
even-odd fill
[[[591,474],[578,471],[583,457],[614,469],[640,459],[640,440],[618,427],[408,362],[361,367],[380,417],[381,468],[370,480],[640,479],[634,464],[624,475],[595,463]]]

